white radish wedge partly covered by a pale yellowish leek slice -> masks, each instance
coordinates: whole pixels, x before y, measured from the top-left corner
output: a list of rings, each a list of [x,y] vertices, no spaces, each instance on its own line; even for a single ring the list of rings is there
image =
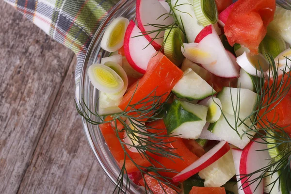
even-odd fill
[[[217,32],[212,25],[212,33],[205,36],[199,43],[199,48],[207,50],[211,56],[216,55],[216,61],[210,64],[201,64],[210,73],[224,78],[239,77],[239,70],[228,56]]]

